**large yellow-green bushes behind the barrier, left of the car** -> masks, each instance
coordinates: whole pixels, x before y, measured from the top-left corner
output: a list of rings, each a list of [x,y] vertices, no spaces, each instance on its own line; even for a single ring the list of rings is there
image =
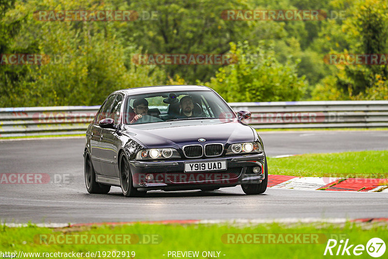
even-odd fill
[[[30,41],[37,35],[39,41],[36,49],[9,52],[44,53],[50,60],[44,65],[2,65],[14,73],[21,67],[28,77],[18,82],[6,75],[6,84],[1,86],[6,95],[1,95],[0,106],[98,105],[114,90],[162,81],[163,74],[158,67],[131,63],[137,46],[121,44],[115,23],[44,22],[32,18],[37,6],[41,10],[77,10],[80,5],[83,9],[94,10],[115,8],[110,4],[97,7],[87,1],[56,0],[44,4],[30,1],[16,7],[14,15],[27,12],[28,16],[16,44]],[[9,87],[9,81],[16,83]]]

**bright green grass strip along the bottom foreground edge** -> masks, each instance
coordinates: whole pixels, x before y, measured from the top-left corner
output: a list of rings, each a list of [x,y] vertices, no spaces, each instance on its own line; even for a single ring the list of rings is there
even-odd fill
[[[230,233],[255,233],[255,234],[313,234],[319,236],[307,243],[282,243],[278,236],[275,243],[250,243],[242,244],[226,243],[226,234]],[[136,234],[155,235],[158,242],[154,244],[40,244],[40,234]],[[285,237],[285,235],[281,235]],[[292,235],[294,236],[294,235]],[[35,237],[35,239],[34,239]],[[266,236],[268,238],[268,236]],[[86,253],[100,251],[134,251],[138,259],[167,259],[168,251],[199,251],[198,258],[203,251],[220,251],[220,258],[224,259],[259,259],[259,258],[287,258],[308,259],[327,258],[323,256],[327,240],[349,239],[349,243],[363,244],[374,237],[379,237],[387,242],[387,224],[379,224],[373,227],[362,227],[353,223],[333,225],[319,224],[293,224],[292,226],[281,224],[261,224],[256,226],[232,227],[226,225],[146,225],[136,224],[132,226],[99,226],[81,228],[39,228],[2,227],[0,231],[0,251],[16,252],[79,252]],[[236,241],[236,238],[232,238]],[[262,240],[262,239],[261,239]],[[277,243],[277,241],[278,243]],[[338,248],[338,245],[337,247]],[[336,253],[336,249],[333,249]],[[387,254],[388,252],[386,252]],[[165,255],[165,256],[163,256]],[[225,256],[224,256],[225,255]],[[340,256],[335,256],[336,258]],[[35,258],[35,257],[25,257]],[[89,257],[82,257],[89,258]],[[353,258],[348,256],[347,258]],[[358,258],[371,258],[366,251]]]

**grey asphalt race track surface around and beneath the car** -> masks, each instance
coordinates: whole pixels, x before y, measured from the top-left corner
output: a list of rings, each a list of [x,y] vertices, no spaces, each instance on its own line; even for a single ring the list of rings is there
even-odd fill
[[[262,132],[268,156],[388,149],[388,131]],[[0,141],[0,173],[43,173],[46,184],[0,184],[0,220],[89,223],[186,219],[387,217],[388,193],[267,189],[245,195],[240,186],[213,192],[149,192],[125,198],[88,194],[83,138]],[[271,172],[270,172],[271,173]]]

